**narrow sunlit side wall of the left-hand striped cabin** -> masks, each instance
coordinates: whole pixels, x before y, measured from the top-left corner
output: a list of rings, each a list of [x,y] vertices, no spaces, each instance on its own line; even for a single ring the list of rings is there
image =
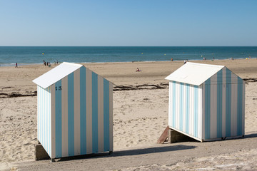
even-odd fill
[[[37,86],[37,139],[51,156],[51,90]]]

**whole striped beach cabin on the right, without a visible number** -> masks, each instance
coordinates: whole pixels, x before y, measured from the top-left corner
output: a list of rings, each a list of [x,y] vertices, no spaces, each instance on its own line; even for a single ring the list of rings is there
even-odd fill
[[[166,79],[169,128],[201,142],[244,135],[245,83],[226,66],[188,62]]]

